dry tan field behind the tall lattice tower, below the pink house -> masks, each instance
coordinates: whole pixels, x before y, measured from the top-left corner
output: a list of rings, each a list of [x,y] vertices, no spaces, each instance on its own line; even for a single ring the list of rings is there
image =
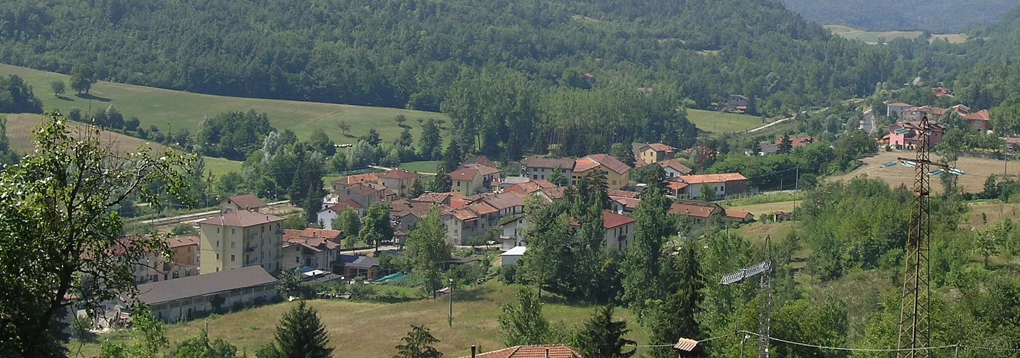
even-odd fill
[[[858,175],[867,175],[872,178],[879,178],[897,187],[905,184],[910,187],[914,183],[914,169],[897,164],[887,168],[879,168],[882,164],[896,162],[898,157],[913,158],[913,152],[880,152],[874,157],[864,158],[864,165],[854,171],[828,178],[827,180],[849,180]],[[938,161],[937,156],[932,155],[932,161]],[[984,190],[984,180],[989,175],[1003,174],[1003,161],[984,158],[960,157],[956,167],[964,171],[960,176],[960,186],[966,192],[980,192]],[[932,168],[934,170],[935,168]],[[1020,163],[1009,163],[1007,168],[1009,175],[1020,174]],[[942,185],[938,177],[931,177],[931,191],[941,192]]]

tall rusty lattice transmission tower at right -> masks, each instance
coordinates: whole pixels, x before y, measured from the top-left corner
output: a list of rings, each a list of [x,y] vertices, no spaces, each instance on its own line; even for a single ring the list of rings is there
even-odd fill
[[[931,212],[928,207],[928,194],[931,190],[931,180],[928,169],[931,166],[947,167],[945,164],[931,162],[928,157],[928,146],[933,132],[941,132],[937,126],[928,123],[928,116],[921,117],[918,123],[907,122],[908,129],[918,133],[917,153],[915,158],[900,158],[902,161],[914,162],[914,196],[911,199],[910,228],[907,232],[907,259],[904,270],[903,296],[900,309],[900,358],[929,357],[931,342],[931,322],[929,320],[929,304],[931,290],[928,282],[931,279],[928,265],[928,245],[931,236]]]

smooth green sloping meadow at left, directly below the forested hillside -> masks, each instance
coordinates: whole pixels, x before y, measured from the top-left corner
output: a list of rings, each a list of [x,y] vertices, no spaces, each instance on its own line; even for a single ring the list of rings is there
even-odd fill
[[[401,132],[401,128],[393,120],[399,114],[407,117],[404,125],[410,126],[415,138],[421,132],[417,119],[447,118],[442,113],[397,108],[199,95],[105,81],[94,84],[89,97],[66,94],[62,98],[56,98],[50,91],[50,82],[67,82],[70,76],[0,64],[0,75],[8,74],[24,78],[33,86],[36,96],[43,101],[45,109],[59,109],[62,113],[67,113],[76,107],[82,112],[88,112],[90,108],[95,112],[113,105],[124,115],[124,119],[138,116],[144,127],[156,125],[160,130],[188,128],[194,133],[205,116],[254,109],[267,113],[274,127],[293,129],[299,138],[307,139],[312,131],[321,128],[338,143],[353,143],[357,140],[356,136],[368,133],[369,128],[378,130],[382,140],[393,140]],[[340,130],[341,121],[351,125],[351,131],[347,135]]]

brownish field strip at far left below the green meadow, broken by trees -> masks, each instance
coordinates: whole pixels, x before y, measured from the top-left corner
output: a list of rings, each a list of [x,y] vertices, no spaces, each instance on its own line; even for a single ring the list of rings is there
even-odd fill
[[[10,147],[15,153],[23,155],[34,148],[32,144],[33,130],[43,122],[42,115],[39,114],[4,114],[7,117],[7,138],[10,140]],[[68,123],[71,132],[84,128],[86,125],[80,123]],[[166,148],[165,145],[153,143],[144,139],[117,132],[103,132],[104,140],[114,144],[114,151],[118,153],[129,153],[144,146],[152,148],[153,153],[160,153]],[[215,175],[222,175],[226,172],[241,172],[242,162],[231,161],[222,158],[202,157],[205,161],[206,172]]]

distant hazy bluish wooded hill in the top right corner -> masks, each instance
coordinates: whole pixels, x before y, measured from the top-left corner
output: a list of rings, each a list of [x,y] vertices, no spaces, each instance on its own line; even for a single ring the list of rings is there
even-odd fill
[[[868,31],[962,33],[994,23],[1020,0],[781,0],[818,23]]]

